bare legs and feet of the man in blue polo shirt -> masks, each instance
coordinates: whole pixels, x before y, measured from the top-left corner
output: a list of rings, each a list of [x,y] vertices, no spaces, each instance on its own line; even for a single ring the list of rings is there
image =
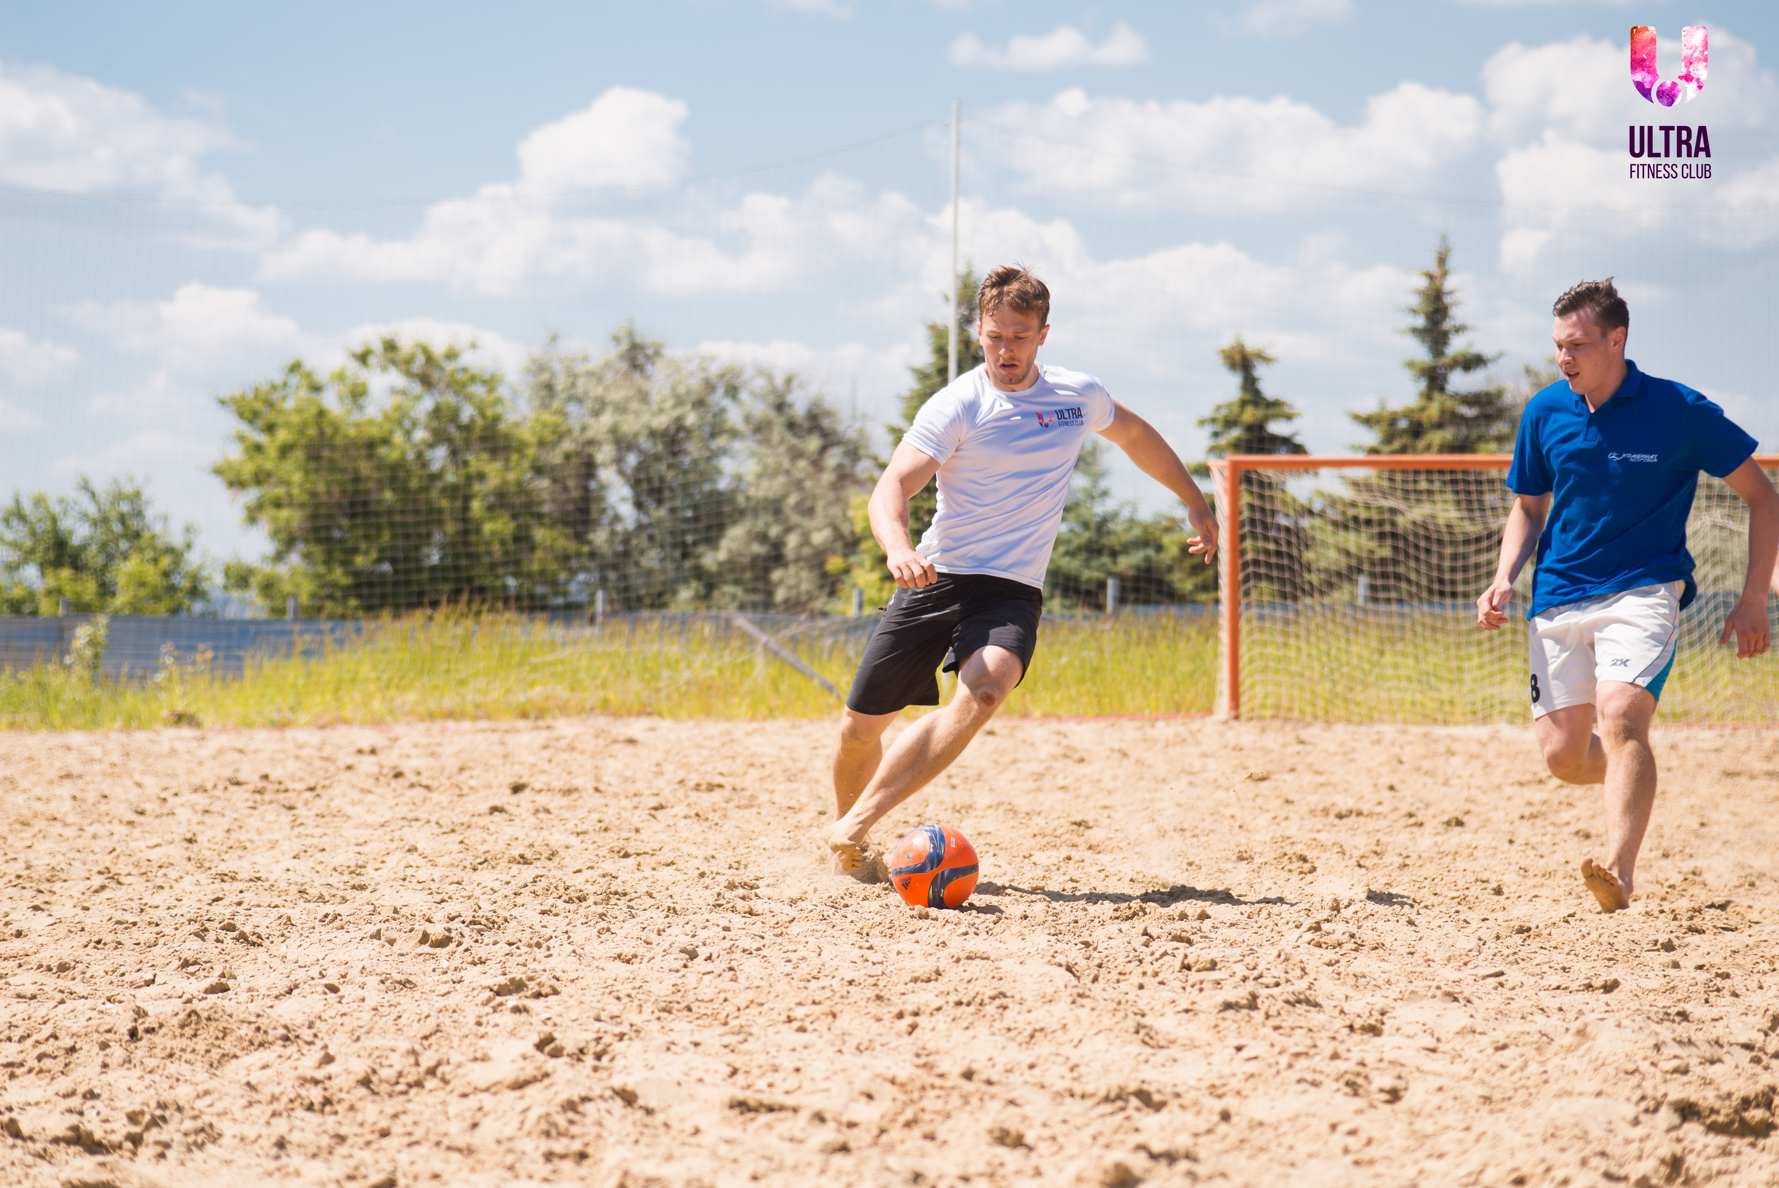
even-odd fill
[[[1571,784],[1605,784],[1606,861],[1582,859],[1582,880],[1606,912],[1631,905],[1637,854],[1656,804],[1656,761],[1649,722],[1656,699],[1628,681],[1601,681],[1601,731],[1594,706],[1553,710],[1537,720],[1537,738],[1551,774]]]

